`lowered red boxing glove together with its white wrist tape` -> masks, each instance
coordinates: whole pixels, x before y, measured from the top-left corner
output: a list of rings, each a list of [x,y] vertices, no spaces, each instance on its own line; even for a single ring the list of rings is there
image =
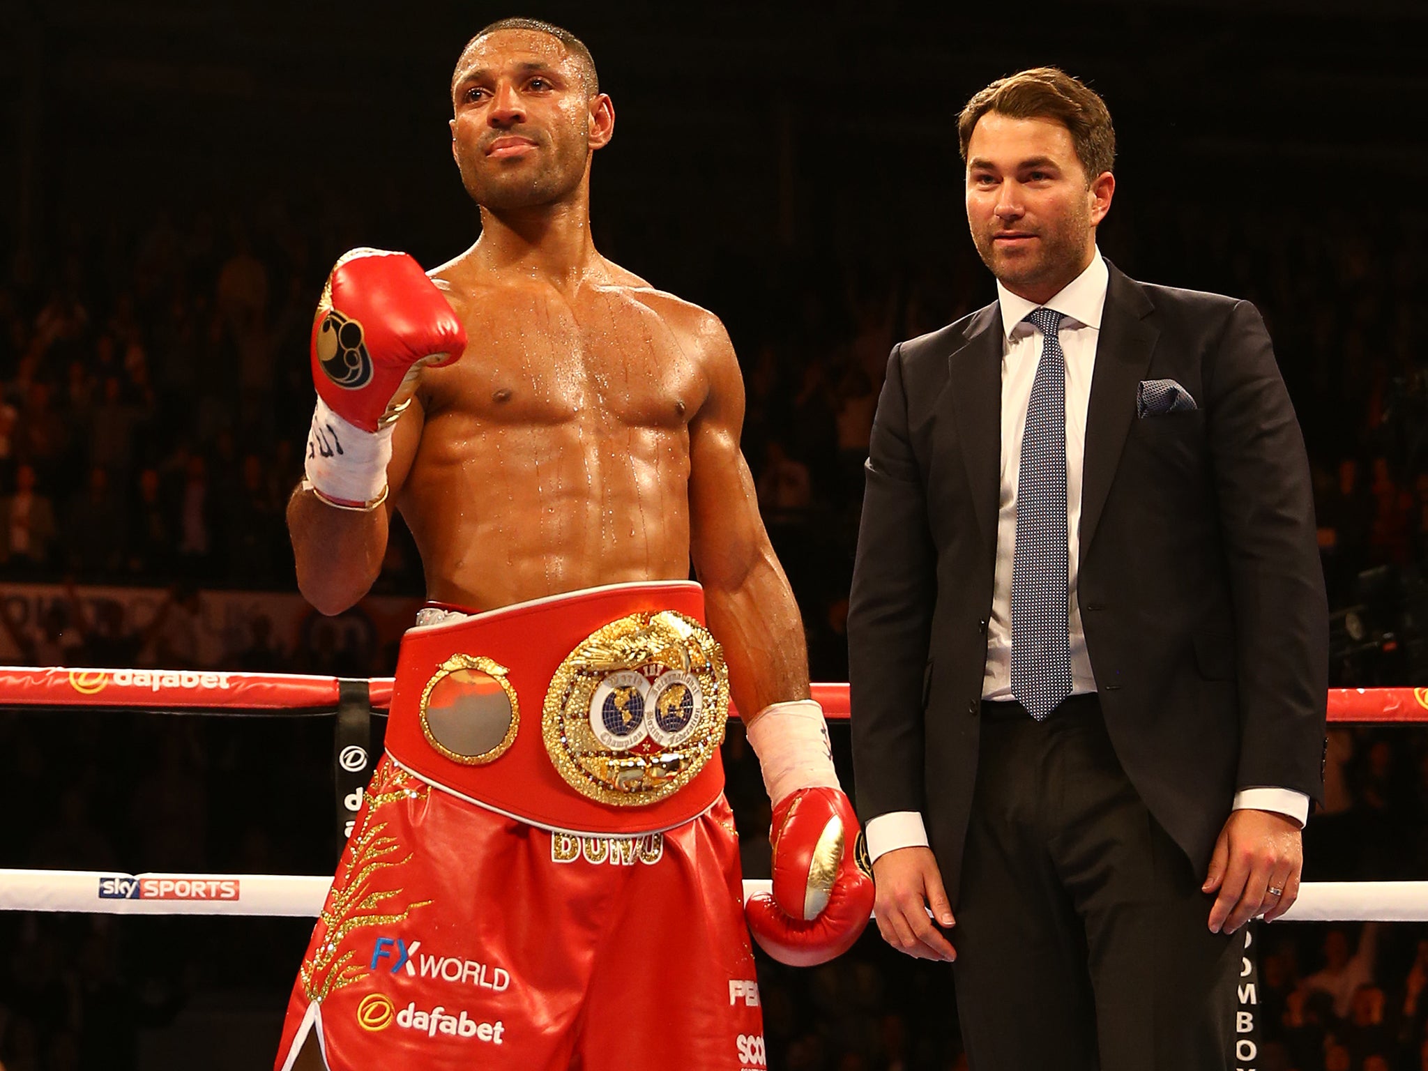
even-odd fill
[[[838,787],[823,708],[778,703],[750,723],[774,803],[773,895],[745,907],[748,930],[780,962],[814,967],[845,952],[873,914],[873,880],[858,870],[858,818]]]

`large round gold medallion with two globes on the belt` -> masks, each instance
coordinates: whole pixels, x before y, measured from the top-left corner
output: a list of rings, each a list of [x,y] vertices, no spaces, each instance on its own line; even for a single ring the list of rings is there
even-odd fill
[[[555,670],[541,733],[581,795],[617,807],[664,800],[724,740],[728,668],[698,621],[638,613],[591,633]]]

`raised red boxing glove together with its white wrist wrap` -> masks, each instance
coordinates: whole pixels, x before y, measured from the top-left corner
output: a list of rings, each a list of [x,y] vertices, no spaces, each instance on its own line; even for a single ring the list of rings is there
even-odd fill
[[[343,254],[313,320],[317,408],[306,470],[318,497],[356,510],[386,498],[393,426],[418,373],[464,348],[466,328],[416,260],[374,248]]]

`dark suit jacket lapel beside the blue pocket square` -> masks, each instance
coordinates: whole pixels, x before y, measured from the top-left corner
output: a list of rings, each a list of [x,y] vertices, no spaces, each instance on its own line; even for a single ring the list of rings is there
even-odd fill
[[[1091,373],[1085,414],[1085,457],[1081,470],[1081,560],[1111,493],[1125,436],[1135,418],[1135,394],[1160,331],[1147,317],[1155,310],[1145,290],[1114,264],[1101,314],[1101,337]]]

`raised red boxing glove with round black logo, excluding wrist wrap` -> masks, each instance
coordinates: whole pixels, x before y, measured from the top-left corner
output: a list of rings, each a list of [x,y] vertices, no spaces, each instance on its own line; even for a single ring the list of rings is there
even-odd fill
[[[333,266],[313,321],[313,381],[348,424],[390,424],[420,366],[450,364],[464,348],[461,321],[406,253],[354,248]]]

